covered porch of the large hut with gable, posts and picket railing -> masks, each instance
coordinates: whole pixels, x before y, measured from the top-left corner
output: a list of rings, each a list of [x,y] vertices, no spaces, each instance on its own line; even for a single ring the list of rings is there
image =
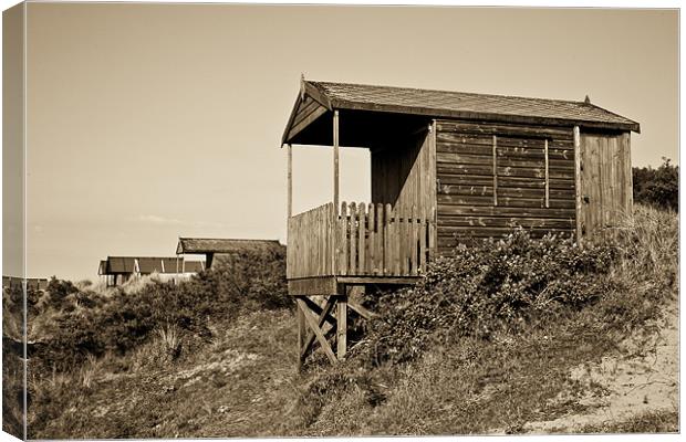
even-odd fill
[[[425,116],[334,108],[310,82],[283,134],[288,147],[287,278],[291,295],[343,285],[413,284],[436,249],[435,131]],[[331,147],[331,202],[293,213],[293,145]],[[371,152],[372,201],[340,200],[340,149]]]

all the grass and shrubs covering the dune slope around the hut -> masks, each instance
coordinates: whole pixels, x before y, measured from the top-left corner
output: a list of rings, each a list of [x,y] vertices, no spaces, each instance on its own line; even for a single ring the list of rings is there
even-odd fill
[[[35,302],[33,333],[56,345],[30,361],[30,436],[521,432],[606,393],[570,370],[658,317],[678,290],[677,248],[675,213],[636,204],[584,248],[517,231],[460,249],[416,287],[367,294],[378,315],[351,312],[347,360],[330,367],[316,350],[301,375],[283,256],[136,293],[55,281]],[[661,412],[584,431],[674,422]]]

